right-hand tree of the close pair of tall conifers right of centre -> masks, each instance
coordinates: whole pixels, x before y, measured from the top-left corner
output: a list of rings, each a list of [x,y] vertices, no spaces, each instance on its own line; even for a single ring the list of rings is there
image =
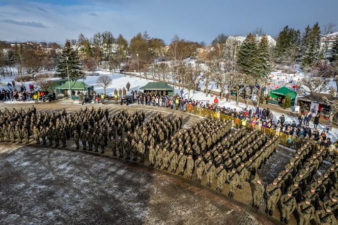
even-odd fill
[[[256,78],[266,78],[269,76],[272,68],[269,55],[269,43],[266,35],[264,35],[258,44],[256,57],[256,65],[253,67]]]

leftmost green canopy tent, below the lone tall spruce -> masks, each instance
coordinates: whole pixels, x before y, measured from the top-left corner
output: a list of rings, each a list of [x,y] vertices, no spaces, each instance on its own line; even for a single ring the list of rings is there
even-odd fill
[[[94,91],[94,86],[86,85],[86,83],[82,81],[66,81],[63,85],[55,88],[55,94],[58,98],[70,95],[69,85],[70,89],[75,92],[73,99],[78,99],[78,92],[80,92],[83,96],[88,96],[92,91]]]

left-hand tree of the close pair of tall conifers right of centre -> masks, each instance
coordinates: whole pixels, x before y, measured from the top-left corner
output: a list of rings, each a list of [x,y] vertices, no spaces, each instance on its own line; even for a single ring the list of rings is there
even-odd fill
[[[249,33],[237,53],[237,65],[241,68],[243,73],[256,76],[257,50],[256,37]]]

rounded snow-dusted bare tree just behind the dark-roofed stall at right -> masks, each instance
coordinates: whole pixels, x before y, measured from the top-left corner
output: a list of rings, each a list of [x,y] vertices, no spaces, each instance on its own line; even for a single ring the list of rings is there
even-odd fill
[[[327,91],[327,85],[329,80],[321,77],[304,77],[298,83],[298,94],[309,95],[312,93],[320,93]]]

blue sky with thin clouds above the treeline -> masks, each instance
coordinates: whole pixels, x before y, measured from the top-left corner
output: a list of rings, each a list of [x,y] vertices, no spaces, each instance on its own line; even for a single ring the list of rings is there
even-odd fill
[[[317,21],[338,31],[337,9],[336,0],[0,0],[0,40],[63,44],[104,31],[130,40],[147,31],[167,44],[174,35],[209,44],[256,27],[272,37],[285,25],[303,31]]]

